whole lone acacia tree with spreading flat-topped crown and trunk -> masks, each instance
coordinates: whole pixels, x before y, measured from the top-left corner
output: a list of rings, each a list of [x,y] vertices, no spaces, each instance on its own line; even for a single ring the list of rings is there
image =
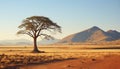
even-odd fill
[[[53,38],[51,35],[46,34],[49,32],[61,32],[61,27],[51,21],[48,17],[44,16],[31,16],[23,20],[22,24],[18,26],[21,30],[17,34],[27,34],[34,40],[33,52],[40,52],[37,47],[37,38],[39,36],[45,39]]]

